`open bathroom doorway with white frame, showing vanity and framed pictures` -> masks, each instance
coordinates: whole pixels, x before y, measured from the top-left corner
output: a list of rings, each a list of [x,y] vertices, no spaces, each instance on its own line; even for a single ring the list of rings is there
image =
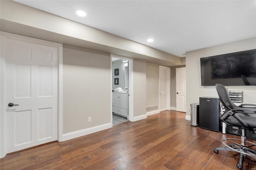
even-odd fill
[[[132,59],[111,55],[110,77],[111,125],[132,121]]]

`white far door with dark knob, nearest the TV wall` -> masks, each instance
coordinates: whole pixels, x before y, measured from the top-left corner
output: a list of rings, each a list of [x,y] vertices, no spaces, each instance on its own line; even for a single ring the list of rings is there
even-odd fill
[[[186,112],[186,67],[176,68],[176,111]]]

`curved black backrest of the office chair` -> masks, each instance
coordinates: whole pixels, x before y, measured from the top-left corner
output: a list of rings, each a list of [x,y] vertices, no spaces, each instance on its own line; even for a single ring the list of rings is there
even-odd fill
[[[226,112],[232,110],[234,107],[237,107],[229,98],[228,92],[227,92],[226,88],[224,87],[224,85],[216,84],[215,87],[216,87],[217,93],[220,97],[220,101],[221,101],[222,105],[224,106]]]

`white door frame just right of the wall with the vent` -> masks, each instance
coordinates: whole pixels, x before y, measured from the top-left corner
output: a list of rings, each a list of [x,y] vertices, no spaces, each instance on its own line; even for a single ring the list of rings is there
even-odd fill
[[[171,68],[170,67],[166,67],[166,66],[162,66],[159,65],[159,77],[158,77],[158,82],[159,82],[159,86],[158,86],[158,100],[159,100],[159,111],[161,112],[160,109],[160,69],[165,69],[167,72],[167,79],[166,79],[166,83],[167,83],[167,92],[166,92],[166,109],[167,110],[171,110]]]

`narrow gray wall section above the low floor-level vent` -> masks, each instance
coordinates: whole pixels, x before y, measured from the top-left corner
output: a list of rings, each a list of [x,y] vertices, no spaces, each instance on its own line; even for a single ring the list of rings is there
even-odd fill
[[[159,105],[159,65],[146,63],[146,107],[155,105]]]

